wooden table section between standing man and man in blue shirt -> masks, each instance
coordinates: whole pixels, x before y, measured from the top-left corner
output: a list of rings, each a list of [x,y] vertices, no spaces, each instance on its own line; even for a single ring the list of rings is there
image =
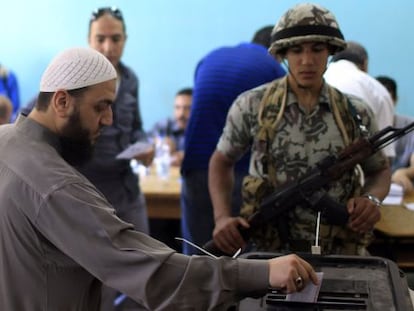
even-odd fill
[[[148,217],[180,219],[181,181],[178,167],[171,167],[168,178],[160,178],[151,167],[148,175],[140,176],[141,190],[147,202]]]

